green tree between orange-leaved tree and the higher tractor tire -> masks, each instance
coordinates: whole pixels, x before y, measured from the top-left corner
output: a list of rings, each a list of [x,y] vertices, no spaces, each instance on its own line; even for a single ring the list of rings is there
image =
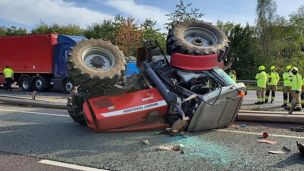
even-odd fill
[[[155,28],[155,20],[151,18],[146,18],[145,22],[141,25],[143,28],[143,34],[140,39],[142,42],[146,40],[156,39],[160,47],[166,52],[166,33],[161,33],[160,28]]]

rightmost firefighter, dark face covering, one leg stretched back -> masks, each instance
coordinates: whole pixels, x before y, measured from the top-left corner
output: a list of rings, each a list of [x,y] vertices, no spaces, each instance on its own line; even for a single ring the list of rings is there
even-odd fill
[[[292,67],[291,69],[292,77],[290,78],[292,81],[291,85],[291,96],[292,100],[291,103],[287,104],[287,107],[284,107],[284,109],[289,110],[292,105],[297,102],[296,108],[294,111],[301,111],[301,102],[300,102],[300,93],[302,88],[302,77],[300,74],[298,74],[298,69],[296,67]]]

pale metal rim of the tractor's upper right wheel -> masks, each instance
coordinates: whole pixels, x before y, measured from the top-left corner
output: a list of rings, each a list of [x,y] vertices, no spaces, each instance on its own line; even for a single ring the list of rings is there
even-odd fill
[[[183,33],[183,38],[191,45],[208,47],[216,43],[216,36],[205,29],[198,27],[188,28]]]

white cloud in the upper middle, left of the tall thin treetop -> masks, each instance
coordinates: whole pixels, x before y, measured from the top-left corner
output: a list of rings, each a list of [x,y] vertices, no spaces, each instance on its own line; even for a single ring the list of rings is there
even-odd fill
[[[170,13],[156,6],[136,4],[134,0],[108,0],[101,3],[113,7],[121,13],[132,15],[141,22],[145,21],[146,18],[157,20],[158,27],[162,29],[164,24],[168,22],[168,17],[165,14]]]

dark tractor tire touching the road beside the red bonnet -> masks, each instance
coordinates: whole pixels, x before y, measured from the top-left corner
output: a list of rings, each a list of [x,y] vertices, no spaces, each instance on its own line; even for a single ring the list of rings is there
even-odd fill
[[[75,88],[74,88],[75,89]],[[75,104],[73,104],[73,98],[74,101],[77,101],[76,98],[78,98],[77,94],[75,91],[71,91],[69,93],[68,101],[67,101],[67,106],[68,106],[68,112],[69,115],[72,117],[72,119],[75,122],[78,122],[80,125],[87,125],[87,122],[84,118],[84,113],[83,111],[79,111],[79,107],[74,107]]]

